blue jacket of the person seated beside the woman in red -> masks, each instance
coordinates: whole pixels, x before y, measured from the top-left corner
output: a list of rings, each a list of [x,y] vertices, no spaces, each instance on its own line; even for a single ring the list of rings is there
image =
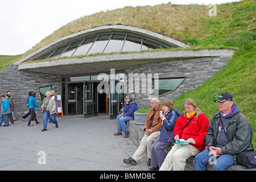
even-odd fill
[[[162,127],[158,131],[160,131],[159,142],[175,142],[174,139],[174,126],[176,124],[177,119],[180,117],[180,110],[173,109],[169,113],[164,113],[166,119],[162,122]]]

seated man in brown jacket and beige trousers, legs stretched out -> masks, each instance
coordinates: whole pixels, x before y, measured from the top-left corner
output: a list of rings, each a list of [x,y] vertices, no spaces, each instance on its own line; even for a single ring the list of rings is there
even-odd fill
[[[144,137],[141,139],[141,144],[135,151],[133,157],[129,159],[123,159],[123,162],[126,164],[135,165],[141,160],[144,152],[147,150],[148,162],[147,166],[150,166],[151,162],[151,147],[158,138],[158,130],[162,126],[162,119],[160,118],[160,111],[163,111],[162,106],[160,105],[159,98],[152,98],[150,102],[151,109],[147,114],[147,120],[144,125]]]

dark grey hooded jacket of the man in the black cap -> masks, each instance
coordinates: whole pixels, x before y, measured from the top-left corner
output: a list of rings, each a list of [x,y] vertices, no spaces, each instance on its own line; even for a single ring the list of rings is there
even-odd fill
[[[253,148],[251,139],[253,138],[253,128],[249,121],[240,113],[240,107],[234,104],[234,110],[229,115],[228,123],[226,123],[226,134],[228,143],[221,147],[223,154],[232,154],[234,164],[237,164],[237,154],[248,147]],[[217,146],[217,135],[220,127],[220,114],[216,112],[210,120],[208,133],[205,136],[207,147]]]

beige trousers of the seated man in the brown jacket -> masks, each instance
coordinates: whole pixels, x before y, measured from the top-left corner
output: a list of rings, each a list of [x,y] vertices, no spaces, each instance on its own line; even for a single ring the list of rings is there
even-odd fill
[[[151,159],[151,147],[155,142],[156,138],[158,138],[158,131],[151,133],[150,135],[144,134],[144,137],[141,139],[141,144],[135,151],[133,155],[133,159],[138,163],[141,160],[144,152],[147,150],[147,156]]]

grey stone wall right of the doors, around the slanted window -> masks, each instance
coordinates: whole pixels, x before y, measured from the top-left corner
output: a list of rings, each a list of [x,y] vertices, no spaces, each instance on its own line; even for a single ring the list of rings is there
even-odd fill
[[[187,77],[182,84],[176,90],[174,90],[174,92],[159,96],[160,100],[162,101],[167,99],[174,100],[175,98],[179,97],[181,93],[194,90],[208,80],[208,78],[213,77],[214,74],[226,66],[229,59],[229,56],[215,56],[167,60],[161,63],[135,65],[127,68],[125,71],[127,80],[129,80],[129,73],[131,73],[131,75],[138,73],[137,76],[134,77],[140,77],[141,79],[140,84],[135,84],[134,79],[133,89],[131,89],[134,91],[139,90],[139,93],[135,92],[132,94],[135,97],[135,101],[138,103],[138,109],[141,109],[144,107],[150,107],[149,100],[152,98],[152,94],[148,92],[148,89],[147,93],[142,93],[143,88],[147,86],[146,82],[148,81],[142,78],[142,76],[152,74],[152,77],[154,78],[154,74],[158,73],[159,78]],[[152,82],[152,84],[154,84],[154,82]]]

